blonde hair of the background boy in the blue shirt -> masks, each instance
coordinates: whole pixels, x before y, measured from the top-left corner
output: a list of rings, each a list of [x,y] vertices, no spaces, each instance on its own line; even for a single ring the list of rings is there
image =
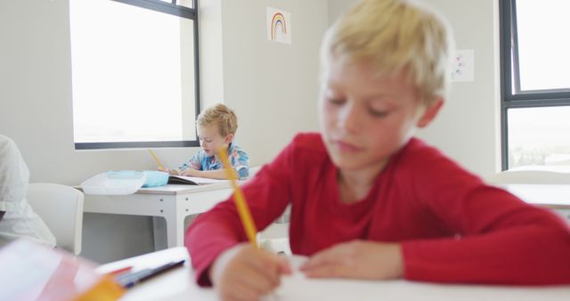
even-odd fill
[[[219,134],[225,137],[238,130],[238,117],[232,109],[218,103],[199,113],[196,124],[199,127],[216,125]]]

